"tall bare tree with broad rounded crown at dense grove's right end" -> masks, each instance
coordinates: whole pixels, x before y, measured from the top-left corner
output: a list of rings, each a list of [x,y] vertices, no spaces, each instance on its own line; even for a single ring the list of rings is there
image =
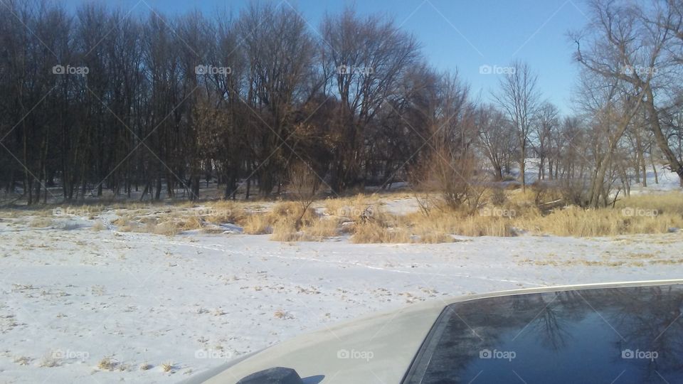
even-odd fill
[[[327,92],[339,97],[334,124],[341,132],[332,164],[332,188],[341,191],[359,183],[368,128],[384,102],[400,89],[401,77],[416,63],[418,43],[393,21],[360,18],[351,9],[327,16],[320,29]]]

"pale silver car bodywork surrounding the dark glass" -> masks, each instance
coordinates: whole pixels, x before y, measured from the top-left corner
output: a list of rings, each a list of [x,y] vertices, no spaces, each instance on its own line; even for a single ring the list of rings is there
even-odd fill
[[[683,280],[658,280],[514,289],[413,304],[297,336],[183,383],[232,384],[276,366],[294,368],[306,384],[400,383],[435,320],[448,304],[510,294],[682,283]]]

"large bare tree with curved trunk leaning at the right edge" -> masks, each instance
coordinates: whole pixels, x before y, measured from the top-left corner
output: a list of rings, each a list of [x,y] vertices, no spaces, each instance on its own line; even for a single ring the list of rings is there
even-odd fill
[[[672,49],[672,39],[680,27],[677,7],[671,4],[674,2],[660,1],[649,7],[593,0],[590,23],[583,33],[574,33],[573,38],[577,45],[576,60],[585,68],[642,92],[642,107],[655,142],[672,171],[683,178],[683,162],[662,132],[660,105],[655,100],[655,95],[666,95],[657,89],[664,91],[671,75],[666,53]],[[582,48],[582,44],[588,48]],[[640,107],[640,103],[637,105]]]

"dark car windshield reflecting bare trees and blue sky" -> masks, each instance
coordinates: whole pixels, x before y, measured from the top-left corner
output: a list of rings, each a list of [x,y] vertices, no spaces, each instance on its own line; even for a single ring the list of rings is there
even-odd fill
[[[459,302],[404,383],[681,383],[682,309],[680,284]]]

